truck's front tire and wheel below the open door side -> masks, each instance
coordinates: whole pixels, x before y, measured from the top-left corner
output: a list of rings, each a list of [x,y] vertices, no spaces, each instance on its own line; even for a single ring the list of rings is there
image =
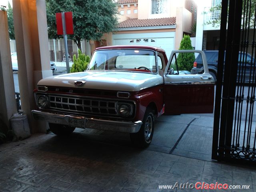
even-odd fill
[[[154,134],[154,110],[147,108],[140,131],[131,133],[130,139],[132,143],[138,147],[146,148],[152,141]]]

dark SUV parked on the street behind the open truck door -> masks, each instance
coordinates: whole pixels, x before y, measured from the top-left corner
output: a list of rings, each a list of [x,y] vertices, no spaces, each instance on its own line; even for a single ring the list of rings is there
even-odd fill
[[[216,50],[209,50],[209,51],[204,51],[205,55],[206,55],[206,59],[208,62],[208,68],[209,68],[209,73],[212,75],[212,77],[214,78],[214,80],[216,81],[217,78],[217,68],[218,68],[218,54],[219,51]],[[254,58],[252,58],[252,56],[250,54],[247,53],[247,56],[244,55],[244,53],[241,52],[239,53],[239,57],[238,57],[238,70],[239,70],[239,64],[240,64],[240,56],[242,55],[241,58],[241,66],[242,66],[242,62],[243,60],[246,60],[246,63],[244,63],[245,66],[245,82],[248,82],[250,79],[250,69],[251,69],[251,63],[254,66]],[[251,62],[252,61],[252,62]],[[225,64],[225,63],[224,63]],[[242,68],[240,68],[240,71],[242,71]],[[244,71],[244,70],[243,70]],[[201,54],[199,54],[196,57],[196,60],[194,62],[194,68],[192,68],[191,70],[191,74],[201,74],[204,72],[204,66],[203,66],[203,62],[202,62],[202,56]],[[239,74],[239,73],[238,73]],[[252,68],[252,74],[253,74],[253,68]],[[241,76],[241,72],[240,72],[240,76]],[[240,80],[241,81],[241,80]]]

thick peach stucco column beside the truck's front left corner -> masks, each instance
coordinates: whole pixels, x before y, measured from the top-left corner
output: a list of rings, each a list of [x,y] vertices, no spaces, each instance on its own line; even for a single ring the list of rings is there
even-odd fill
[[[46,124],[35,122],[33,90],[37,82],[52,76],[46,22],[45,0],[13,0],[14,32],[18,58],[18,80],[22,110],[33,132],[45,132]]]

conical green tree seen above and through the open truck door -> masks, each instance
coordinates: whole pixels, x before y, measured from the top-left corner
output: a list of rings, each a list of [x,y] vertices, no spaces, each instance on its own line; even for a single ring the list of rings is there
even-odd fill
[[[179,50],[192,50],[192,44],[189,35],[184,35],[180,42]],[[177,62],[179,70],[190,71],[193,68],[193,63],[195,61],[194,53],[179,53]]]

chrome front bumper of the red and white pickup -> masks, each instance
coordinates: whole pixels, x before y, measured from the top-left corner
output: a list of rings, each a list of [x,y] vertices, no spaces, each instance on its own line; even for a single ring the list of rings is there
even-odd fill
[[[117,132],[126,133],[136,133],[140,130],[142,121],[137,122],[123,122],[123,121],[112,121],[112,120],[102,120],[95,118],[86,118],[84,116],[72,116],[64,115],[50,112],[42,112],[38,110],[32,110],[33,117],[35,120],[42,120],[49,123],[68,125],[69,118],[85,118],[86,128],[99,129],[99,130],[109,130]]]

